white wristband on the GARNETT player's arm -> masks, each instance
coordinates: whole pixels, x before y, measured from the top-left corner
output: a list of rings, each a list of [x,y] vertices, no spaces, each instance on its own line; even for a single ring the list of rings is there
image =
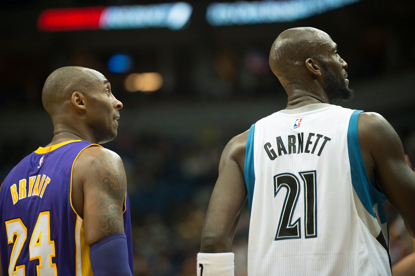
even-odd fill
[[[198,276],[234,276],[234,255],[227,253],[198,253]]]

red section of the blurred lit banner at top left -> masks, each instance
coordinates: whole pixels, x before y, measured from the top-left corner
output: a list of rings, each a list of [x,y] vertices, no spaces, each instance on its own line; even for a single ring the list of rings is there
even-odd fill
[[[104,7],[48,9],[37,22],[39,31],[71,31],[100,29]]]

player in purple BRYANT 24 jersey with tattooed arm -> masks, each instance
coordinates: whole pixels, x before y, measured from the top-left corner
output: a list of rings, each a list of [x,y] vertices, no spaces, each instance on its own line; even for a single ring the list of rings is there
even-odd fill
[[[2,273],[132,275],[124,166],[99,145],[117,136],[122,103],[104,75],[82,67],[51,73],[42,103],[54,137],[0,189]]]

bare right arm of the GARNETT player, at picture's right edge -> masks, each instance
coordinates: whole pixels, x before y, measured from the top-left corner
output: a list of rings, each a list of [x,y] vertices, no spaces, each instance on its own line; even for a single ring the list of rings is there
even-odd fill
[[[385,118],[376,113],[360,114],[358,131],[369,178],[374,172],[383,194],[415,237],[415,174],[405,162],[398,134]]]

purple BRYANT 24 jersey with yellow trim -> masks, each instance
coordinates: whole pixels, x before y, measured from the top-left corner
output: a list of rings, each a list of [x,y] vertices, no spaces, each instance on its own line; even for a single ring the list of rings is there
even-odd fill
[[[83,219],[71,203],[72,168],[87,141],[39,148],[7,175],[0,188],[3,275],[93,275]],[[128,196],[124,206],[129,265],[132,237]]]

